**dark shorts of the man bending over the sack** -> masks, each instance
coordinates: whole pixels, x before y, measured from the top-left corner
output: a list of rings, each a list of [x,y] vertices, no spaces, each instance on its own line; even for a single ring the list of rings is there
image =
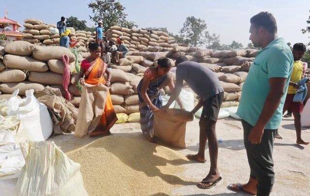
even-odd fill
[[[224,99],[224,92],[218,93],[203,102],[201,118],[217,121],[220,106]]]

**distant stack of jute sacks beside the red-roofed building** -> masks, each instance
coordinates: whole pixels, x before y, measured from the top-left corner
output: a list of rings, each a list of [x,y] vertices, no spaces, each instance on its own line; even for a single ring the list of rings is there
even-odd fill
[[[60,35],[56,25],[31,18],[25,19],[24,23],[24,41],[39,45],[59,45]]]

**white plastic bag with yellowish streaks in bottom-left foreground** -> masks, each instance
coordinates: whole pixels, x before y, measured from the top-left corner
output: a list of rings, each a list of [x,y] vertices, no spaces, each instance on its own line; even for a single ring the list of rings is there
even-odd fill
[[[16,183],[16,196],[88,196],[80,164],[69,159],[54,142],[21,144],[26,164]]]

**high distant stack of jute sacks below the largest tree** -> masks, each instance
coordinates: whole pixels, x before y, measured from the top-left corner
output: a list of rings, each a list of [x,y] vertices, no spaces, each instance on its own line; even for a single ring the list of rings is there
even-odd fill
[[[148,30],[137,28],[128,29],[119,26],[112,26],[105,34],[109,41],[115,43],[118,37],[123,37],[124,44],[130,51],[139,51],[148,46],[171,47],[171,44],[176,43],[176,40],[173,37],[163,31],[153,31],[151,33]]]

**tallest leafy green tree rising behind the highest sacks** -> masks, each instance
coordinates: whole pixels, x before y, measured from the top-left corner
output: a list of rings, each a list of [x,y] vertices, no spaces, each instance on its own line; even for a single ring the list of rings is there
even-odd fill
[[[101,20],[104,30],[108,30],[114,25],[126,28],[137,26],[134,22],[126,20],[125,7],[116,0],[95,0],[89,3],[88,7],[93,11],[93,16],[90,15],[90,19],[95,23]]]

